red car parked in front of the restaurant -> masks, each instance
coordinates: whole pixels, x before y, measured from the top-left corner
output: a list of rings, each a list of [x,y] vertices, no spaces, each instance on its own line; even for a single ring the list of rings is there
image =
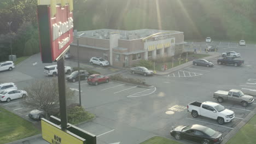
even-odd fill
[[[88,77],[87,83],[89,85],[95,85],[97,86],[99,83],[103,83],[103,82],[109,82],[109,77],[108,76],[104,76],[104,75],[100,75],[100,74],[93,74],[90,75]]]

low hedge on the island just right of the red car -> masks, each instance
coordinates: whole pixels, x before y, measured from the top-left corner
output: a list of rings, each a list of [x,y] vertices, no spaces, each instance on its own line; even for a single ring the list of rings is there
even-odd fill
[[[110,75],[109,77],[110,77],[110,80],[114,80],[114,81],[127,82],[127,83],[132,83],[135,85],[144,85],[145,84],[144,79],[135,79],[135,78],[130,78],[130,77],[124,77],[123,75],[120,75],[120,74]]]

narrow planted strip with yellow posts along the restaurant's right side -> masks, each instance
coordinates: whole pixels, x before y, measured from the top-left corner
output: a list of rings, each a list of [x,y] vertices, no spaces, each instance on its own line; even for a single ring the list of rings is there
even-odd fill
[[[210,55],[203,55],[203,54],[199,54],[199,53],[193,53],[191,55],[188,55],[188,62],[193,61],[193,59],[203,58],[203,57],[208,57],[208,56],[210,56]],[[186,57],[182,57],[181,59],[182,59],[181,64],[186,63]],[[167,69],[172,68],[172,62],[155,63],[155,70],[161,71],[162,65],[165,65],[165,64],[167,64]],[[178,65],[179,65],[178,59],[174,60],[173,67],[176,67]]]

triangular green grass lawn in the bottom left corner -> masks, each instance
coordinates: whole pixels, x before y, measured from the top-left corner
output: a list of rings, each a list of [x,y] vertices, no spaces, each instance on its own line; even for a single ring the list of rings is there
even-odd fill
[[[0,107],[0,144],[40,134],[34,125]]]

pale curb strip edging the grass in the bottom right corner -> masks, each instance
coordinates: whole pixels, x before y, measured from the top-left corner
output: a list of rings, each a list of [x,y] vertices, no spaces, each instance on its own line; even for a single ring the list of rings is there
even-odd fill
[[[232,129],[227,135],[223,137],[222,143],[228,142],[238,131],[256,114],[256,107],[252,112],[250,112],[240,123],[237,124],[237,126]]]

